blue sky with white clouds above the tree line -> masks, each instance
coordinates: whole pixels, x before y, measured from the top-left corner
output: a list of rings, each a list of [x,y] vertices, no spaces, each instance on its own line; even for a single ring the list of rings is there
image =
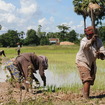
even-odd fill
[[[83,17],[74,12],[73,0],[0,0],[0,34],[8,30],[18,32],[29,29],[58,32],[65,24],[77,33],[83,33]],[[87,19],[87,26],[91,24]]]

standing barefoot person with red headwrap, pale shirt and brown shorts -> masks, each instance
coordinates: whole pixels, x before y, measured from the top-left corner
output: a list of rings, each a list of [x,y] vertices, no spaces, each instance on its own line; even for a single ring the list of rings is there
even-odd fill
[[[76,65],[83,83],[83,97],[89,98],[90,85],[94,84],[96,75],[96,59],[104,60],[105,49],[92,26],[85,29],[85,34],[76,55]]]

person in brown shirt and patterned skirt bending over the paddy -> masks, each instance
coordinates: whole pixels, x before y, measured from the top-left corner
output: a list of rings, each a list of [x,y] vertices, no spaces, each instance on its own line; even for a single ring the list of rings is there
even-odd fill
[[[33,79],[35,79],[36,82],[39,82],[33,75],[33,73],[36,73],[36,70],[39,70],[43,85],[46,86],[44,70],[48,68],[48,59],[45,56],[37,56],[34,53],[23,53],[17,56],[12,63],[11,61],[7,62],[6,67],[18,83],[24,78],[27,91],[29,91],[29,88],[32,88]]]

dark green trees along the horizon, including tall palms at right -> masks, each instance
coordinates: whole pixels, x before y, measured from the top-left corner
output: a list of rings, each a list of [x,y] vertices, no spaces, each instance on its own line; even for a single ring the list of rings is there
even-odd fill
[[[90,8],[90,4],[98,5],[99,8]],[[90,17],[93,26],[102,25],[102,20],[105,19],[105,0],[73,0],[74,12],[78,15],[82,15],[84,20],[84,29],[86,28],[86,18]],[[91,10],[93,16],[91,16]],[[92,19],[92,17],[94,19]],[[94,20],[94,21],[93,21]],[[18,32],[16,30],[8,30],[7,33],[0,35],[0,46],[2,47],[15,47],[16,43],[22,43],[23,45],[49,45],[49,38],[59,38],[60,42],[70,41],[73,43],[79,43],[84,34],[78,34],[75,30],[70,30],[70,27],[62,24],[57,26],[60,32],[42,32],[42,26],[39,25],[37,30],[30,29],[25,33],[23,31]],[[0,30],[2,26],[0,25]],[[98,35],[105,42],[105,26],[98,27]]]

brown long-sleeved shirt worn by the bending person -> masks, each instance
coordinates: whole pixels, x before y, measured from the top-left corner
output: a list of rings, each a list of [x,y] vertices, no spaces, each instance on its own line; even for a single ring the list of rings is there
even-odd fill
[[[36,70],[39,70],[39,74],[43,76],[44,70],[48,67],[48,64],[44,65],[44,62],[47,63],[47,58],[44,60],[44,58],[42,59],[34,53],[23,53],[15,59],[14,64],[25,77],[28,75],[29,66],[32,67],[33,73],[36,72]]]

